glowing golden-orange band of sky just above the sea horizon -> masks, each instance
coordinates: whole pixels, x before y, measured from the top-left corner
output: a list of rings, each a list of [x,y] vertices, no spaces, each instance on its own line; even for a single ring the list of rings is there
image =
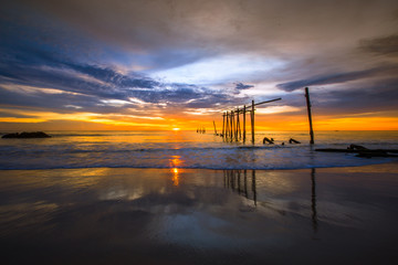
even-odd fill
[[[289,109],[289,108],[286,108]],[[277,109],[276,110],[281,110]],[[67,129],[105,129],[105,130],[196,130],[198,124],[212,128],[212,120],[217,128],[222,128],[221,115],[199,117],[192,115],[171,114],[160,117],[158,114],[136,116],[132,114],[100,114],[100,113],[56,113],[44,109],[11,109],[0,107],[3,116],[0,125],[4,130],[53,130],[65,123]],[[396,112],[359,113],[346,115],[313,115],[314,130],[397,130],[398,118]],[[14,124],[14,125],[13,125]],[[84,126],[83,126],[84,124]],[[250,126],[247,123],[247,126]],[[308,121],[305,113],[294,114],[262,114],[255,116],[256,130],[307,130]]]

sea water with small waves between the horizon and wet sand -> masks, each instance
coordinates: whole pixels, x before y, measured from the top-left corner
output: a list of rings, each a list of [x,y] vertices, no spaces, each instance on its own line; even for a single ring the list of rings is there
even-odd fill
[[[197,131],[48,131],[52,138],[0,139],[0,169],[302,169],[380,163],[396,158],[317,152],[316,148],[398,149],[398,131],[259,131],[254,144]],[[263,145],[264,137],[274,145]],[[298,145],[289,144],[293,138]],[[284,145],[282,145],[284,144]]]

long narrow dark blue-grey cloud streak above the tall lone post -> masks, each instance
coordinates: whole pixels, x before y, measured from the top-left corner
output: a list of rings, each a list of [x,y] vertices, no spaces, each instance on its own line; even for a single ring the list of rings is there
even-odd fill
[[[386,66],[380,66],[364,71],[333,73],[322,76],[312,76],[305,80],[277,84],[276,86],[285,92],[293,92],[295,89],[300,89],[305,86],[341,84],[349,81],[394,74],[397,72],[398,72],[398,65],[386,65]]]

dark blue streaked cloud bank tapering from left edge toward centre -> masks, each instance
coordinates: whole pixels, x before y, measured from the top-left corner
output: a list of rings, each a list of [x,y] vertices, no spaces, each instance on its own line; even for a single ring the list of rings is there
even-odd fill
[[[119,73],[111,66],[81,63],[48,53],[45,46],[0,44],[0,54],[7,54],[0,63],[0,104],[4,105],[124,113],[125,105],[139,108],[145,103],[155,104],[146,106],[148,110],[159,103],[211,107],[231,98],[195,84],[165,83],[137,72]]]

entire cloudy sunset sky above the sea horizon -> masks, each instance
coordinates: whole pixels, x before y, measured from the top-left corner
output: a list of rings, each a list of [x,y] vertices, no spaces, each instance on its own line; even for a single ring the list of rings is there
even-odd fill
[[[396,0],[1,0],[0,131],[398,130]]]

